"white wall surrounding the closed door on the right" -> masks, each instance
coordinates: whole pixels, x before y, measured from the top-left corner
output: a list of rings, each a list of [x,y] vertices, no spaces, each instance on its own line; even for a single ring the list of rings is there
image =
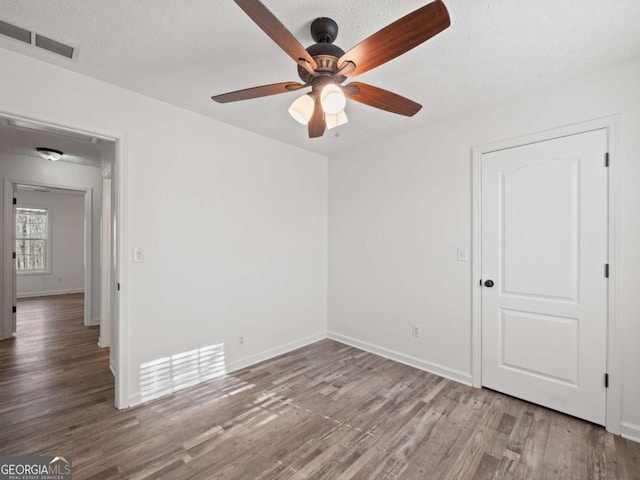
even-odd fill
[[[456,248],[471,246],[472,147],[620,113],[623,240],[612,268],[622,279],[623,431],[640,438],[639,85],[635,61],[332,157],[329,331],[470,381],[471,263]]]

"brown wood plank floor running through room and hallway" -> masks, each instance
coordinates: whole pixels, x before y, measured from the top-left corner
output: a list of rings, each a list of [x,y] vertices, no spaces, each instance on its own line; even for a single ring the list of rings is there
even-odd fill
[[[639,479],[640,444],[324,340],[114,409],[82,295],[23,300],[0,342],[0,454],[78,479]]]

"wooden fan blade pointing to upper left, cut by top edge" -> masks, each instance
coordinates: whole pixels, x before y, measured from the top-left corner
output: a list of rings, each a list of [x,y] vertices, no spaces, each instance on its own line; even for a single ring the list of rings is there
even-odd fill
[[[313,70],[318,68],[313,57],[262,2],[259,0],[235,0],[235,2],[295,62],[303,59],[311,64]]]

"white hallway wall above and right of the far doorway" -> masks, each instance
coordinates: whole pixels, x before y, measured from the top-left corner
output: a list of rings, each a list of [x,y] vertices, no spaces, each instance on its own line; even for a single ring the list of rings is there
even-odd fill
[[[0,101],[0,110],[2,102]],[[14,153],[0,151],[0,177],[11,181],[23,183],[33,183],[36,185],[52,185],[59,187],[84,187],[93,189],[93,252],[91,271],[91,320],[97,324],[100,321],[100,213],[102,202],[102,177],[100,169],[76,165],[66,162],[49,162],[37,157],[28,157]],[[0,189],[2,186],[0,186]],[[20,192],[21,196],[24,192]],[[84,202],[84,196],[80,197]],[[0,208],[3,204],[3,197],[0,197]],[[83,206],[84,211],[84,206]],[[83,219],[84,222],[84,219]],[[83,223],[84,225],[84,223]],[[81,261],[84,265],[83,247],[79,250]],[[0,263],[0,266],[2,264]],[[84,266],[83,266],[84,268]],[[56,278],[51,278],[53,284],[57,283]],[[84,284],[84,279],[83,282]],[[49,284],[50,286],[51,284]],[[18,289],[23,286],[22,278],[18,279]],[[33,285],[32,285],[33,286]],[[52,290],[59,290],[51,287]],[[18,293],[20,290],[18,290]],[[0,299],[0,302],[2,299]],[[2,311],[0,309],[0,311]]]

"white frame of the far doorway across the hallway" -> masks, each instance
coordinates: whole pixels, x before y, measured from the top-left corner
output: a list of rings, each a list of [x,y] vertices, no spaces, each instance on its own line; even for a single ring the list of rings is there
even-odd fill
[[[37,182],[32,180],[19,180],[19,179],[7,179],[5,178],[5,185],[9,183],[11,184],[12,193],[13,189],[15,189],[18,185],[30,185],[34,187],[44,187],[44,188],[60,188],[64,190],[72,190],[76,192],[84,192],[84,233],[83,233],[83,244],[84,244],[84,324],[87,327],[92,326],[93,323],[93,188],[92,187],[79,187],[75,185],[62,185],[62,184],[54,184],[48,182]],[[12,205],[10,205],[12,206]],[[5,210],[5,215],[7,215],[8,210]],[[13,218],[5,218],[5,225],[9,223],[13,224]],[[11,236],[13,240],[13,236]],[[13,242],[6,242],[5,244],[5,252],[4,258],[9,258],[11,252],[15,250],[15,246]],[[12,274],[12,276],[15,275]],[[15,279],[14,279],[15,280]],[[5,299],[6,299],[5,295]],[[6,301],[6,300],[5,300]],[[13,303],[14,299],[11,300]],[[5,327],[6,328],[6,327]],[[5,333],[11,333],[5,331]],[[8,336],[8,335],[6,335]]]

